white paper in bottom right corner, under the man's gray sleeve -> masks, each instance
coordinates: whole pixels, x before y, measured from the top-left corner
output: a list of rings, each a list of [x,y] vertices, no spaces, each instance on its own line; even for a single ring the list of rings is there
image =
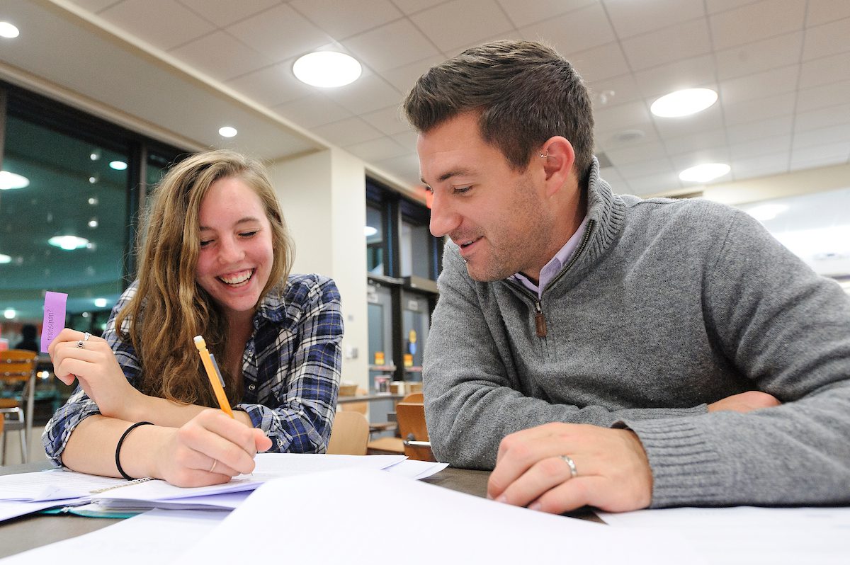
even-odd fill
[[[850,562],[850,508],[666,508],[599,516],[613,527],[683,535],[724,564]]]

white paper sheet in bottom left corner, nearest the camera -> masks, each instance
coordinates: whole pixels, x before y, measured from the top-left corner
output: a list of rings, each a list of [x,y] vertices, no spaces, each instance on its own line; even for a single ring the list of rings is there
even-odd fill
[[[150,565],[167,562],[184,550],[187,540],[204,536],[224,516],[224,512],[152,510],[90,534],[24,551],[0,563]],[[154,541],[156,543],[152,543]]]

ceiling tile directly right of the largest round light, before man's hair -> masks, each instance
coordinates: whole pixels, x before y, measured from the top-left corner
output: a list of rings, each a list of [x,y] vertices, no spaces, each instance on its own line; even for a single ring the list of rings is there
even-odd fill
[[[341,42],[369,65],[372,71],[386,71],[438,55],[433,43],[410,20],[396,20]],[[389,46],[392,46],[391,48]]]

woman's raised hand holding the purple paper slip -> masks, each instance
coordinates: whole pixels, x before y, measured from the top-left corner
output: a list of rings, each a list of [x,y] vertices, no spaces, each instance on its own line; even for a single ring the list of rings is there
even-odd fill
[[[70,385],[76,378],[100,413],[137,421],[144,394],[127,381],[115,353],[104,339],[65,328],[48,347],[54,373]]]

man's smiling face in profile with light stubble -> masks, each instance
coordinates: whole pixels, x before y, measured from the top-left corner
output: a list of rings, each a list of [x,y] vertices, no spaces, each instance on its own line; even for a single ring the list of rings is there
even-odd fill
[[[479,115],[466,113],[419,135],[422,182],[433,190],[431,233],[461,248],[474,280],[505,279],[522,271],[537,279],[552,257],[542,240],[550,216],[541,167],[524,172],[479,133]],[[541,249],[542,248],[542,249]]]

